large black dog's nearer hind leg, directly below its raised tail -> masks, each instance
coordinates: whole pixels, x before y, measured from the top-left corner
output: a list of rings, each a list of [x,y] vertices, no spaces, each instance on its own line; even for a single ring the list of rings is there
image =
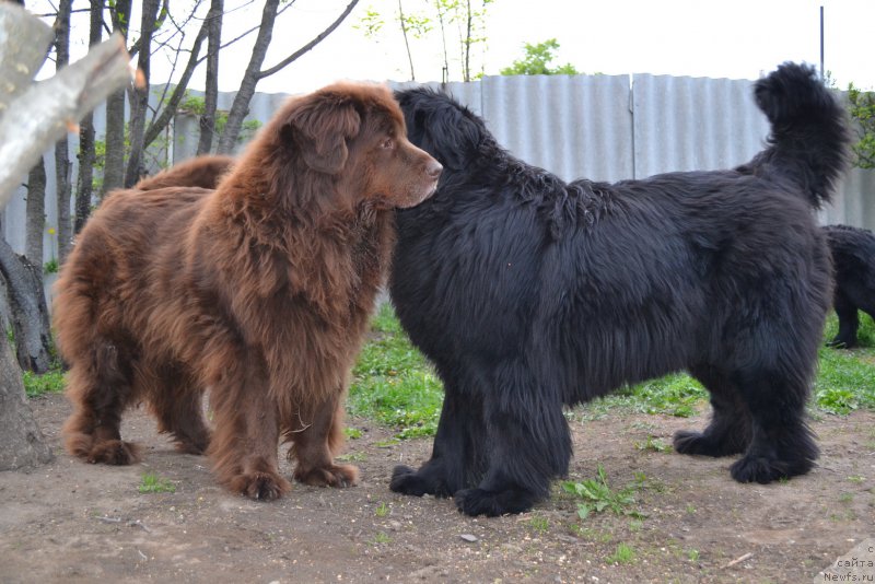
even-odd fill
[[[818,448],[805,423],[805,379],[760,370],[739,374],[738,387],[750,410],[752,433],[744,457],[730,467],[732,477],[765,484],[810,470]]]

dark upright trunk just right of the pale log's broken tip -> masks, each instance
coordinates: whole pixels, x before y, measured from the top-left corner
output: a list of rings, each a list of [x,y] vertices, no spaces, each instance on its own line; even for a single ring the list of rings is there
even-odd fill
[[[130,188],[145,174],[143,149],[145,144],[145,114],[149,109],[149,61],[152,57],[152,35],[161,0],[143,0],[140,42],[137,50],[137,67],[142,71],[145,84],[133,90],[130,104],[130,154],[125,172],[125,188]]]

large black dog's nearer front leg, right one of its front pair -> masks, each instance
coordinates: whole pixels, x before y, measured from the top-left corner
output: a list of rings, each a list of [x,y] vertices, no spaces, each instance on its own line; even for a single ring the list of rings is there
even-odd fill
[[[572,447],[561,401],[525,365],[508,367],[497,383],[483,401],[486,476],[476,488],[454,495],[467,515],[528,511],[548,497],[552,478],[568,474]]]

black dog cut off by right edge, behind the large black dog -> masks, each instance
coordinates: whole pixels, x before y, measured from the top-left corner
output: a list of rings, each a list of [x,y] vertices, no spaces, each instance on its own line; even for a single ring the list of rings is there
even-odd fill
[[[832,253],[839,317],[839,332],[829,344],[850,349],[856,346],[858,311],[875,318],[875,234],[850,225],[827,225],[824,232]]]

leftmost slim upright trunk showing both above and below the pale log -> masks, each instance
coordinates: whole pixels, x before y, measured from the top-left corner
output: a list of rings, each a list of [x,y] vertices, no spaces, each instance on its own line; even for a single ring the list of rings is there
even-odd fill
[[[58,3],[58,17],[55,21],[56,71],[70,62],[70,12],[72,0]],[[70,221],[71,177],[70,151],[67,135],[55,144],[55,189],[58,201],[58,264],[63,264],[72,243],[72,222]],[[42,259],[38,260],[42,266]]]

